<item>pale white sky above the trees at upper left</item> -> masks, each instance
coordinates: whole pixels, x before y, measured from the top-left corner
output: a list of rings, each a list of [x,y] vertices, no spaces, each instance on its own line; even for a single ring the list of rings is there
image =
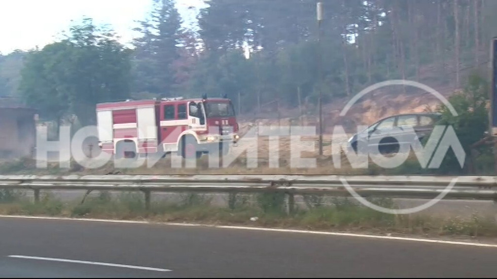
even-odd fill
[[[93,18],[96,24],[109,24],[122,43],[136,35],[136,20],[146,18],[152,0],[0,0],[0,53],[30,50],[58,40],[68,30],[71,20]],[[177,0],[185,24],[194,22],[202,0]],[[194,7],[195,9],[188,9]]]

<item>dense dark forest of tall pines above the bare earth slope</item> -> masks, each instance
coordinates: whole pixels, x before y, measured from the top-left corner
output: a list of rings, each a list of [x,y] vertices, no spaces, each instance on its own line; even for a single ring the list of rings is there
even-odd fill
[[[164,87],[157,84],[167,80],[176,91],[188,90],[196,96],[199,91],[241,94],[247,111],[258,111],[252,106],[260,108],[275,99],[294,107],[298,95],[301,101],[317,102],[316,89],[321,86],[318,62],[323,66],[325,102],[385,79],[413,79],[435,88],[459,87],[457,80],[467,77],[467,69],[488,60],[484,42],[494,35],[492,15],[497,8],[490,0],[323,1],[322,46],[318,49],[315,0],[205,3],[207,7],[198,15],[198,34],[188,35],[195,44],[202,42],[194,59],[185,52],[181,36],[176,38],[176,52],[170,40],[160,47],[168,50],[167,55],[179,50],[180,56],[159,59],[153,43],[159,34],[159,25],[154,23],[158,21],[143,25],[134,63],[139,87],[134,91],[163,93]],[[169,20],[164,26],[177,30],[175,22]],[[251,50],[251,58],[242,63],[238,54],[244,47]],[[237,58],[227,58],[232,54]],[[230,72],[233,70],[239,72]],[[172,82],[171,76],[175,78]],[[241,80],[251,82],[239,83]]]

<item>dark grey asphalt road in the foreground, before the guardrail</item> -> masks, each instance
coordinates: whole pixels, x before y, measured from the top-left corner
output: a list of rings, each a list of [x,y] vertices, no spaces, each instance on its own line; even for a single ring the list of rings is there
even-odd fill
[[[13,255],[169,271],[9,257]],[[0,217],[2,277],[493,277],[496,256],[492,247]]]

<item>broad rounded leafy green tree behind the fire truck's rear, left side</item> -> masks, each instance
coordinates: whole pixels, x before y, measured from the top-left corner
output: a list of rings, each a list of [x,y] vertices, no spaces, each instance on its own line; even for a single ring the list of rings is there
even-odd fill
[[[95,104],[128,98],[130,51],[91,19],[70,28],[61,42],[28,54],[20,95],[48,119],[76,114],[95,123]]]

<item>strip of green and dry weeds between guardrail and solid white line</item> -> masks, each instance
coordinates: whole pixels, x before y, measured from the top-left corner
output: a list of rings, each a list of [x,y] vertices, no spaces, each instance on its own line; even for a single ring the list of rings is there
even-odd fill
[[[205,225],[257,226],[315,231],[416,235],[423,237],[485,238],[497,236],[494,219],[474,215],[470,220],[429,215],[392,215],[351,202],[332,198],[324,204],[319,197],[307,196],[305,207],[289,212],[285,198],[274,193],[230,196],[228,206],[218,206],[197,193],[183,194],[177,201],[152,201],[145,209],[143,194],[125,192],[113,196],[98,192],[82,200],[63,202],[50,192],[32,203],[24,193],[0,190],[0,215],[50,216],[151,222],[197,223]],[[371,200],[394,208],[385,198]]]

